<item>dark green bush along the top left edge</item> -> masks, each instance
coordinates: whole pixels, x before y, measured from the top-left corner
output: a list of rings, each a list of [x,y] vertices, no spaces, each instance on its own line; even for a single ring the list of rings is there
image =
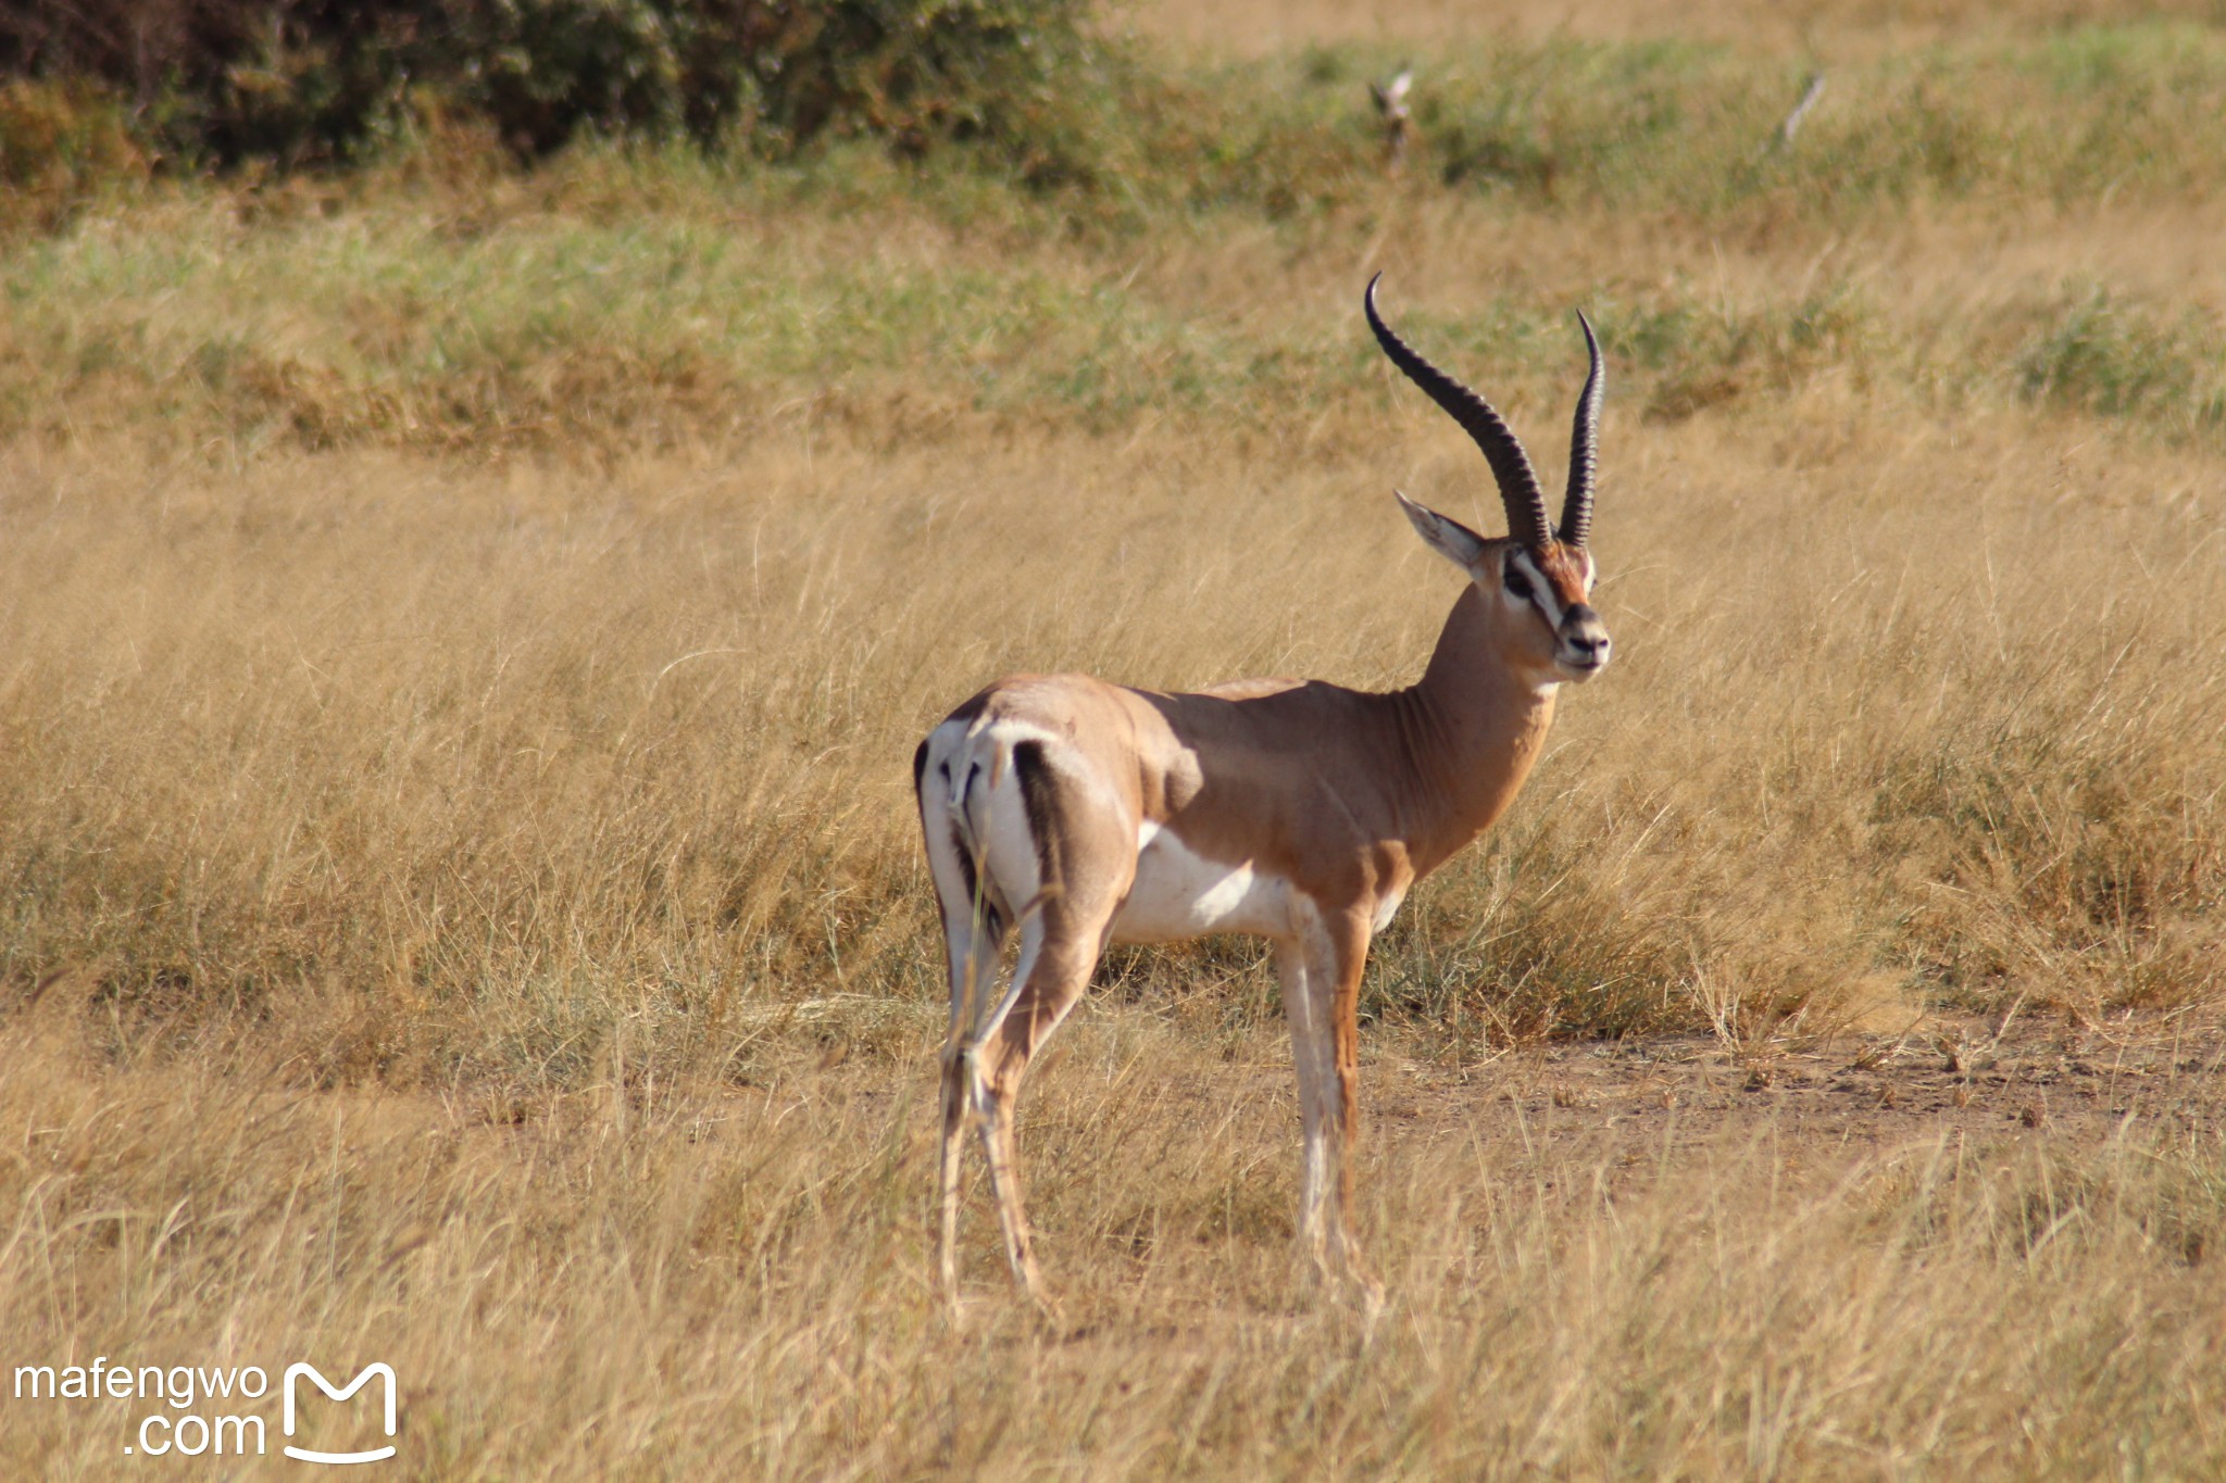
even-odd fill
[[[784,153],[1040,151],[1093,44],[1084,0],[82,0],[0,9],[0,80],[98,84],[165,153],[345,162],[414,113],[521,158],[583,131]]]

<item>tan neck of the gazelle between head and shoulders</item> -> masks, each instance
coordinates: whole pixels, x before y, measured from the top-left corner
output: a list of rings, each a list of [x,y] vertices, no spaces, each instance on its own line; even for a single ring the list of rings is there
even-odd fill
[[[1507,812],[1554,725],[1560,685],[1509,663],[1500,618],[1474,583],[1462,585],[1420,683],[1398,691],[1420,778],[1407,845],[1418,876]]]

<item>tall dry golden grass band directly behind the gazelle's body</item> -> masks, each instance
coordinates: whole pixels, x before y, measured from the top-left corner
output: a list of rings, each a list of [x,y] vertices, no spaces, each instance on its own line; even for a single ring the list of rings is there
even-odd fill
[[[162,1023],[341,981],[352,1074],[528,1081],[634,1005],[695,1043],[748,996],[933,994],[922,729],[1008,669],[1405,683],[1456,583],[1385,489],[1485,518],[1425,411],[1322,409],[1311,447],[775,422],[610,474],[24,447],[9,969]],[[1625,658],[1416,898],[1389,1007],[2210,994],[2204,456],[1834,378],[1609,440]]]

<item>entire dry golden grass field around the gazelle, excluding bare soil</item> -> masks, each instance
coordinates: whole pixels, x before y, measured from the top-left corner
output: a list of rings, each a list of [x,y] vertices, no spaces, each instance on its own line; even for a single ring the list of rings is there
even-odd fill
[[[2217,996],[2202,460],[1832,389],[1612,425],[1618,669],[1380,952],[1373,1343],[1291,1298],[1249,947],[1131,958],[1031,1087],[1068,1325],[977,1243],[939,1327],[908,740],[1020,665],[1411,674],[1451,578],[1382,485],[1474,454],[1365,442],[20,451],[9,1354],[381,1356],[427,1476],[2215,1467],[2208,1078],[1856,1156],[1498,1101],[1556,1021]],[[51,1476],[140,1414],[9,1405]]]

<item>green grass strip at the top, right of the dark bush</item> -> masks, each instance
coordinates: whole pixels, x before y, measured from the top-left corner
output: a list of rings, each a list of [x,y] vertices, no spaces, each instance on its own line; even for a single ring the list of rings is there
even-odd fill
[[[1362,89],[1393,49],[1311,49],[1162,71],[1106,142],[1126,198],[1293,213],[1356,198],[1378,145]],[[1790,149],[1808,67],[1694,42],[1445,49],[1416,93],[1409,173],[1523,202],[1852,225],[1917,200],[2213,191],[2226,182],[2226,38],[2157,22],[1943,44],[1828,67]]]

